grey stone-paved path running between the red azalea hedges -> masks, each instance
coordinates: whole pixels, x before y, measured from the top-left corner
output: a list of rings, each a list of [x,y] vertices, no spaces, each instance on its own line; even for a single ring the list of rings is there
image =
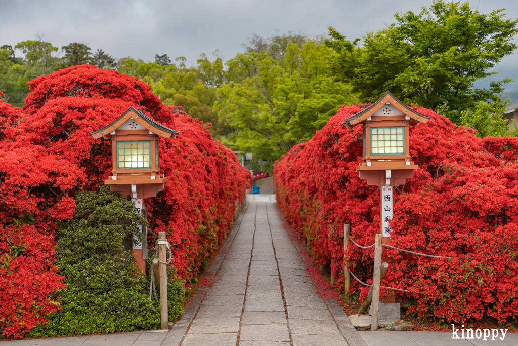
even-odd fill
[[[192,323],[180,321],[163,345],[348,345],[340,327],[354,328],[316,294],[276,204],[249,202],[236,227]]]

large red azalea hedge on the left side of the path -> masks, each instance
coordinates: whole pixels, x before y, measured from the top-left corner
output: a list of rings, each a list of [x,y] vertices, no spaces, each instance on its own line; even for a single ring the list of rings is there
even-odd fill
[[[160,166],[169,181],[145,202],[151,229],[166,231],[170,242],[179,243],[174,265],[181,278],[195,275],[215,250],[232,225],[235,200],[243,200],[250,184],[249,172],[231,150],[212,140],[207,126],[181,108],[164,106],[135,77],[81,65],[38,77],[30,88],[23,109],[0,95],[0,331],[5,337],[23,336],[59,305],[50,299],[63,287],[52,265],[57,223],[74,215],[74,191],[96,190],[110,174],[111,145],[89,132],[128,107],[180,132],[176,139],[161,139]]]

